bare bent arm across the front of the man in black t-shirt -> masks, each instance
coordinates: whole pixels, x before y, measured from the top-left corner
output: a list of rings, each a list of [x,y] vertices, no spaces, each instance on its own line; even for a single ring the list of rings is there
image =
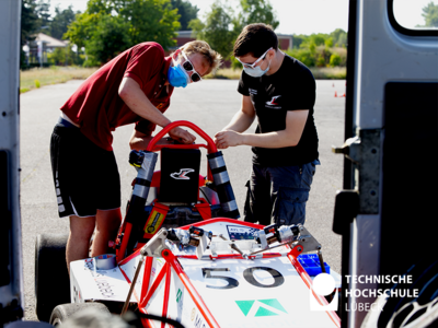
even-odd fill
[[[260,148],[295,147],[301,139],[309,109],[288,112],[286,115],[286,129],[268,133],[239,133],[235,131],[221,131],[216,134],[216,144],[219,149],[246,144]]]

